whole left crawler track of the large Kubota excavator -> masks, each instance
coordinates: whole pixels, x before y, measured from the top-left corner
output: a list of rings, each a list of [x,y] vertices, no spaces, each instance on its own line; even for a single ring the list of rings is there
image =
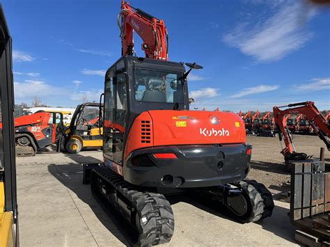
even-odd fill
[[[167,243],[174,231],[171,205],[159,193],[144,191],[123,180],[123,177],[102,166],[91,171],[94,196],[111,203],[138,232],[134,246]]]

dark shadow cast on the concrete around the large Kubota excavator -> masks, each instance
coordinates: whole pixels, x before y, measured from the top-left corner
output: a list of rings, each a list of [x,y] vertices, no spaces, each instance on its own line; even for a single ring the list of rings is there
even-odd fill
[[[89,205],[98,220],[113,234],[113,236],[115,236],[126,246],[132,245],[131,243],[134,241],[134,237],[136,237],[136,232],[134,229],[120,216],[120,214],[118,214],[118,212],[113,211],[113,207],[110,205],[101,203],[102,206],[100,207],[97,200],[93,198],[89,184],[82,184],[82,166],[80,163],[84,163],[86,160],[89,162],[100,162],[100,160],[93,157],[83,157],[79,154],[65,155],[70,157],[72,161],[79,164],[50,164],[48,166],[49,173],[56,177],[56,179],[70,189],[70,191],[76,193],[80,200]],[[191,196],[188,194],[177,194],[166,196],[166,198],[168,198],[171,205],[178,202],[187,202],[205,212],[230,220],[228,216],[224,215],[228,213],[228,209],[224,208],[219,202],[207,202],[203,200],[203,198],[197,198],[196,196]],[[221,214],[221,212],[223,214]],[[274,214],[276,215],[284,215],[287,214],[287,212],[288,209],[284,209],[282,207],[276,206],[274,209]],[[273,221],[274,218],[266,218],[258,224],[261,225],[263,229],[269,230],[279,237],[282,237],[288,241],[293,241],[292,235],[288,232],[288,229],[276,227]]]

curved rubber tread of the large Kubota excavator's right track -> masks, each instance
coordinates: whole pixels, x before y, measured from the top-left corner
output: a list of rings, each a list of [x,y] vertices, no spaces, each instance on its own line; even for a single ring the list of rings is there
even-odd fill
[[[269,192],[264,184],[260,184],[256,180],[241,180],[239,187],[251,199],[251,214],[244,222],[256,222],[262,218],[272,216],[274,201],[272,193]]]

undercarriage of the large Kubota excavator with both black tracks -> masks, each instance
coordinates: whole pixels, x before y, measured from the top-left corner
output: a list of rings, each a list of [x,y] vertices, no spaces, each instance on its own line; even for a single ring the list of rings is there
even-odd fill
[[[163,244],[171,240],[174,215],[164,190],[158,193],[155,188],[129,184],[103,164],[84,164],[84,174],[84,180],[91,181],[93,195],[103,203],[113,205],[134,227],[138,236],[130,240],[134,246]],[[205,205],[212,205],[212,209],[242,223],[269,217],[274,209],[272,194],[255,180],[186,189],[180,193],[187,193],[202,204],[210,202]]]

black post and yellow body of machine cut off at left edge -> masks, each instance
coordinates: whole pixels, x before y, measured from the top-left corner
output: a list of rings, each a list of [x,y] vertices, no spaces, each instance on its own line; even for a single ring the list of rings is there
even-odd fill
[[[0,5],[0,246],[18,246],[11,38]]]

